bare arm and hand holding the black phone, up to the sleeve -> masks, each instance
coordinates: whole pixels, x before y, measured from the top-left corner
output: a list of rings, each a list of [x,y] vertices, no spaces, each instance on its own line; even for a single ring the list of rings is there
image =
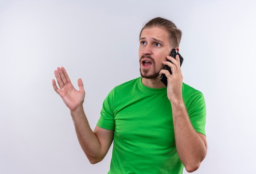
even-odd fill
[[[167,96],[172,105],[176,149],[186,171],[193,172],[199,168],[207,154],[207,141],[204,134],[195,131],[186,111],[182,98],[183,76],[180,58],[179,56],[176,56],[176,59],[171,56],[166,58],[173,62],[163,62],[164,65],[171,67],[172,74],[165,69],[162,69],[160,74],[165,74],[168,80]]]

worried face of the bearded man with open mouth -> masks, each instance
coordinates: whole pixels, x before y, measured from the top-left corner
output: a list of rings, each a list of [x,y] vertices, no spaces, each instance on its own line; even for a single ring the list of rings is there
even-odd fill
[[[169,36],[165,29],[146,28],[139,38],[139,71],[143,78],[157,78],[171,52]]]

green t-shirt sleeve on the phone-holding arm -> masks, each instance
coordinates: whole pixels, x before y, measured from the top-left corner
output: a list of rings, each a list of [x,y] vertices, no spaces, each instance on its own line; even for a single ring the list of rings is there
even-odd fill
[[[195,131],[205,135],[206,105],[203,94],[198,91],[189,99],[186,108]]]

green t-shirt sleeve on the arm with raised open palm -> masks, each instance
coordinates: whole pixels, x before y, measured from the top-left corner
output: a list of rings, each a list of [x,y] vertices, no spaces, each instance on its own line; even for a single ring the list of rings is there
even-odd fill
[[[114,89],[112,89],[112,91],[110,91],[108,96],[105,98],[102,105],[102,109],[101,109],[101,116],[97,123],[97,126],[103,129],[115,130],[113,100],[114,100]]]

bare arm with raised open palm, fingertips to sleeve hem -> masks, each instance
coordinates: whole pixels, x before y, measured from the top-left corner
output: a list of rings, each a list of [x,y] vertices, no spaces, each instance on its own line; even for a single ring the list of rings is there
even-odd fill
[[[82,80],[78,80],[77,91],[63,67],[57,68],[54,74],[59,88],[55,80],[52,80],[52,85],[70,109],[79,143],[90,163],[98,163],[106,156],[113,141],[114,131],[96,126],[93,132],[83,110],[85,91]]]

